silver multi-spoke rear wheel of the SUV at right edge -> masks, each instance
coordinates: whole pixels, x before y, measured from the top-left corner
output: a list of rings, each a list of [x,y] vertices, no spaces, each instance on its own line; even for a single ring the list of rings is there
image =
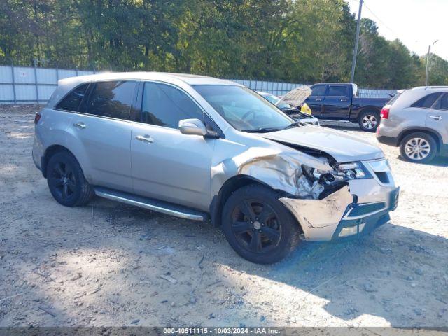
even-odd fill
[[[429,162],[437,154],[437,144],[429,134],[415,132],[402,139],[400,154],[410,162]]]

